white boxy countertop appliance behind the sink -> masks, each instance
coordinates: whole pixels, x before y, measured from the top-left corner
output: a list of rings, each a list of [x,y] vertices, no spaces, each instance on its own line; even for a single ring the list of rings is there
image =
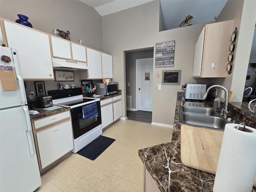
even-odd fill
[[[206,84],[187,84],[186,99],[203,100],[206,92]]]

